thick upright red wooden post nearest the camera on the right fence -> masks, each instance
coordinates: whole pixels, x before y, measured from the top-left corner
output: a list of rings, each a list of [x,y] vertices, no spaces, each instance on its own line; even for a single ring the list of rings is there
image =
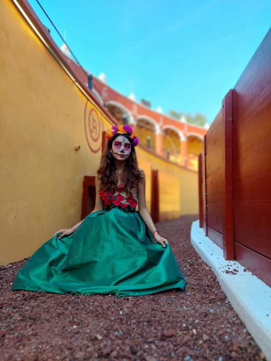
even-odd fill
[[[233,183],[232,183],[232,90],[222,102],[224,126],[224,188],[223,188],[223,257],[234,259]]]

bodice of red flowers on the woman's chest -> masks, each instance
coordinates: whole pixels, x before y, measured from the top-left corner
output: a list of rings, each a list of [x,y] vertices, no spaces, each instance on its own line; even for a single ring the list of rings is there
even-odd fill
[[[112,209],[113,207],[121,207],[124,210],[132,210],[136,208],[137,205],[137,190],[133,192],[132,195],[127,197],[126,193],[123,192],[123,186],[118,181],[118,188],[114,194],[106,193],[105,191],[99,191],[99,194],[102,200],[106,204],[106,208]]]

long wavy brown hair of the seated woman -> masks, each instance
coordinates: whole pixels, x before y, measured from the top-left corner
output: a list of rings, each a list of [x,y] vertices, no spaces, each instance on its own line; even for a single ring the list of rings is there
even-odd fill
[[[113,141],[120,134],[116,133],[111,140],[107,142],[106,147],[103,150],[100,167],[97,170],[98,177],[101,181],[100,190],[113,194],[118,186],[116,166],[114,162],[113,154],[110,152],[112,149]],[[125,161],[124,170],[121,173],[121,183],[123,185],[123,192],[127,195],[131,195],[133,189],[138,188],[140,181],[144,179],[142,172],[138,169],[138,161],[136,158],[136,150],[133,144],[133,139],[128,134],[121,134],[121,136],[127,138],[131,143],[131,153],[128,159]]]

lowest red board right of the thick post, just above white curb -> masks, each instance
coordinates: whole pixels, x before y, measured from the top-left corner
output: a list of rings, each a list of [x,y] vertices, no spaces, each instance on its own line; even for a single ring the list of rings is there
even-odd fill
[[[271,287],[271,259],[234,242],[235,260]]]

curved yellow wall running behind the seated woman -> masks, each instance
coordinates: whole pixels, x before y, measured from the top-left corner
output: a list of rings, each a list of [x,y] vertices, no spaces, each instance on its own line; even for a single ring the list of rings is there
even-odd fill
[[[55,231],[80,221],[83,178],[95,175],[101,155],[86,141],[86,102],[12,2],[0,1],[0,264],[33,254]],[[106,130],[110,123],[96,111]],[[139,147],[137,155],[149,210],[153,168],[161,171],[160,190],[173,180],[176,216],[198,212],[196,173]],[[169,209],[166,199],[161,195],[161,212]]]

